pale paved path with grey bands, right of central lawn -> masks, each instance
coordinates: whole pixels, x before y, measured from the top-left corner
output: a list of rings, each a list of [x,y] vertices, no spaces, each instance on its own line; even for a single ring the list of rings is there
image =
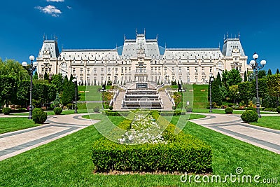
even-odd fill
[[[240,115],[225,115],[217,113],[200,113],[207,118],[190,120],[216,132],[234,137],[249,144],[265,148],[280,154],[280,130],[249,125],[242,122]],[[279,116],[279,114],[262,114],[262,116]]]

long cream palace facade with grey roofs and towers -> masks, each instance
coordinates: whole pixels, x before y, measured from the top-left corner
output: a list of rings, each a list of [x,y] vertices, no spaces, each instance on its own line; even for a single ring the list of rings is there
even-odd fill
[[[204,84],[207,77],[231,69],[238,69],[244,78],[244,71],[251,71],[247,59],[239,38],[224,39],[222,50],[162,48],[158,38],[146,39],[145,32],[137,34],[136,39],[124,39],[124,45],[115,49],[63,49],[59,53],[57,40],[44,40],[36,58],[39,78],[45,72],[50,77],[73,74],[86,85],[101,85],[105,81]]]

